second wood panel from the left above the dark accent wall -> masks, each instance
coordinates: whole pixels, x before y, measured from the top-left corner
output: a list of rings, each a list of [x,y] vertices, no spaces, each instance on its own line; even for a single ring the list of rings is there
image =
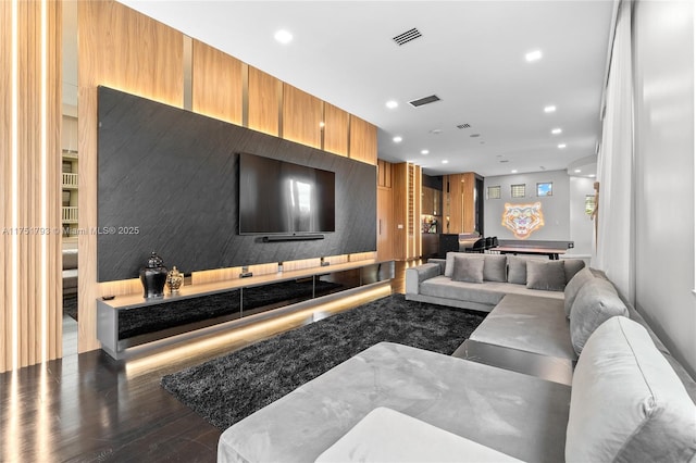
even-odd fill
[[[194,112],[241,125],[243,63],[194,40]]]

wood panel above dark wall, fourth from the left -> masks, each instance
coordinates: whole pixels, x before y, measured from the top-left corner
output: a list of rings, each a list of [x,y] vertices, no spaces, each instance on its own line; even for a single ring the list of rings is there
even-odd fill
[[[322,101],[283,84],[283,138],[312,148],[322,147]]]

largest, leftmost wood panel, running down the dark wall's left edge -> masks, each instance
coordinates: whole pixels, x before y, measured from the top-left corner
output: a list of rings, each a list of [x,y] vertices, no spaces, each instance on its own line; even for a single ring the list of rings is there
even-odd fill
[[[184,36],[113,0],[78,2],[79,226],[97,226],[97,86],[182,108]],[[78,237],[78,351],[99,348],[96,299],[134,292],[97,284],[97,237]],[[137,280],[135,280],[137,281]]]

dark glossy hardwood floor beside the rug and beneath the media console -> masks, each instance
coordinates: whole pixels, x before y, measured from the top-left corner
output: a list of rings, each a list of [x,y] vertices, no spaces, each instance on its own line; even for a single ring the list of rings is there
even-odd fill
[[[394,292],[403,292],[408,265],[397,262]],[[0,462],[213,462],[221,431],[162,389],[160,378],[359,303],[129,361],[100,350],[75,353],[76,322],[67,317],[63,359],[0,374]]]

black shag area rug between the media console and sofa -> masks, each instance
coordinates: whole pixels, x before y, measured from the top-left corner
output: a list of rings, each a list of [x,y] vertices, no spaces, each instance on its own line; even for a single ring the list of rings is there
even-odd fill
[[[166,375],[162,387],[226,429],[377,342],[451,354],[485,315],[393,295]]]

